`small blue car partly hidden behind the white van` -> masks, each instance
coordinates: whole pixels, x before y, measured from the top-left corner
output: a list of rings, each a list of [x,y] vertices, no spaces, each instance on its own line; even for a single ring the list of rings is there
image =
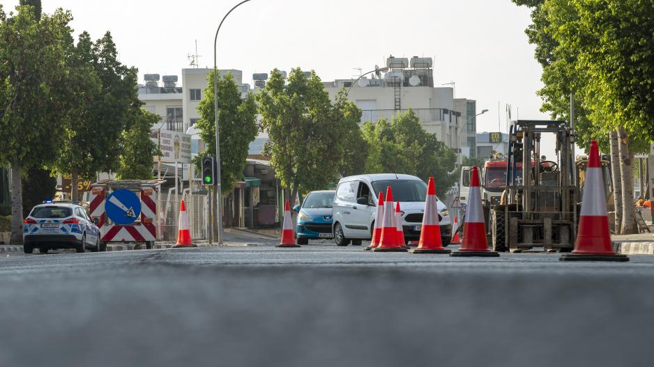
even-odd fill
[[[309,239],[333,238],[332,205],[335,191],[313,191],[304,199],[302,206],[295,205],[298,213],[296,233],[298,244],[307,244]]]

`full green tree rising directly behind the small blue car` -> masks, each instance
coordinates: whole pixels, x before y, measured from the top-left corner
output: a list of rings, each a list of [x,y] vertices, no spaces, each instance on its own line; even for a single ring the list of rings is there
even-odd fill
[[[344,167],[343,118],[349,114],[349,122],[354,120],[351,106],[341,100],[336,103],[343,109],[335,107],[316,73],[306,77],[300,68],[291,70],[287,84],[273,70],[258,99],[261,126],[269,138],[264,154],[271,156],[285,197],[326,188]]]

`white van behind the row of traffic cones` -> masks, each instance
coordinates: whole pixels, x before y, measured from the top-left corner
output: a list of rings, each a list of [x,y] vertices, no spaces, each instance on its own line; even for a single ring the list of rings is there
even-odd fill
[[[427,184],[412,175],[379,173],[342,178],[336,187],[333,205],[333,233],[338,246],[361,244],[372,238],[379,192],[386,196],[386,187],[393,190],[393,199],[400,201],[404,240],[419,240],[423,224]],[[443,246],[450,244],[452,224],[448,208],[438,200],[439,224]]]

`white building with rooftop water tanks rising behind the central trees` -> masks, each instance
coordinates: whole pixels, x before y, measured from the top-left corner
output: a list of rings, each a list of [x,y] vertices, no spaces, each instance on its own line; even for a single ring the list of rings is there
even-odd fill
[[[474,130],[467,134],[464,132],[466,116],[472,116],[472,128],[476,129],[475,101],[455,100],[453,88],[434,87],[432,58],[414,56],[409,60],[390,56],[386,60],[386,68],[388,70],[383,75],[380,72],[358,81],[337,79],[324,82],[324,86],[332,100],[342,88],[347,88],[348,99],[363,111],[361,123],[376,122],[381,118],[390,120],[411,108],[420,118],[425,131],[461,152],[459,159],[462,155],[469,155],[469,141],[474,146]]]

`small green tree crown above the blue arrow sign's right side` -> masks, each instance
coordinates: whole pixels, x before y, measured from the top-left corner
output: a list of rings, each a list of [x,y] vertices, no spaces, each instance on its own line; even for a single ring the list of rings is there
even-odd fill
[[[150,140],[150,129],[158,123],[159,115],[139,109],[135,120],[123,132],[121,157],[116,176],[120,180],[149,180],[153,178],[153,157],[160,155],[157,145]]]

